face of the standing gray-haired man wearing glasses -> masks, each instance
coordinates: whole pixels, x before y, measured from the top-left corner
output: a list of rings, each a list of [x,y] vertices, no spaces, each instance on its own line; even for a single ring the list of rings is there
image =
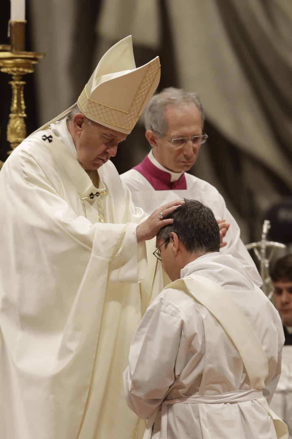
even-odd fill
[[[201,115],[195,104],[188,104],[183,107],[169,106],[165,110],[165,120],[168,130],[165,138],[156,137],[156,145],[153,145],[153,154],[156,160],[173,172],[188,171],[197,160],[200,150],[199,145],[193,145],[189,140],[181,147],[175,147],[166,139],[178,139],[202,134]]]

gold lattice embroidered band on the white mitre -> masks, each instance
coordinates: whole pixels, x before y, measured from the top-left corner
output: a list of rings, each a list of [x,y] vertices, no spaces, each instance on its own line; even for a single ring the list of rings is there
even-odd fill
[[[109,125],[119,126],[127,130],[133,130],[138,118],[139,112],[146,99],[155,77],[159,71],[159,58],[151,61],[143,76],[138,91],[133,99],[128,112],[109,107],[97,101],[92,101],[86,93],[85,87],[78,98],[78,102],[85,115],[106,122]]]

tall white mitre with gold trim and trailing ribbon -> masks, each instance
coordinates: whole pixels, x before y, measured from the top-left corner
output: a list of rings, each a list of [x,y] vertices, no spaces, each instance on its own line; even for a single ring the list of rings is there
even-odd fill
[[[132,36],[127,36],[103,55],[78,98],[78,108],[88,119],[129,134],[155,92],[159,79],[159,57],[136,68]],[[39,130],[62,119],[74,105]]]

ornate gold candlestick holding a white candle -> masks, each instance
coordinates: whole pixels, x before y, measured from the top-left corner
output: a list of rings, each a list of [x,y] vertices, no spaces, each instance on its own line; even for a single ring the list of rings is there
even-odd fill
[[[37,64],[45,54],[25,52],[25,23],[26,21],[10,22],[11,46],[0,46],[0,70],[12,76],[9,83],[12,87],[11,113],[7,125],[7,140],[11,145],[11,152],[26,137],[25,100],[23,88],[26,84],[22,76],[34,72]],[[1,168],[1,164],[0,164]]]

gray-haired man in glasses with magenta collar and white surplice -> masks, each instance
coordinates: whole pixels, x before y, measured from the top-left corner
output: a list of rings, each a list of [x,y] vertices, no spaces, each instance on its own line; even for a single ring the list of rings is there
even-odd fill
[[[204,110],[198,95],[166,88],[151,98],[144,120],[151,151],[140,164],[120,176],[131,191],[134,204],[149,214],[176,198],[194,198],[208,205],[218,220],[220,251],[234,256],[251,281],[260,286],[260,275],[224,198],[207,181],[186,172],[208,139],[203,132]]]

